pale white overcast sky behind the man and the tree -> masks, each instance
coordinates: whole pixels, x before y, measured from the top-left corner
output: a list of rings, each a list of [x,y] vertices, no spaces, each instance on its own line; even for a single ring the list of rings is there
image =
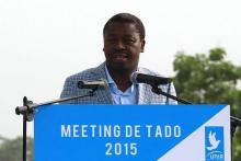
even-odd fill
[[[65,79],[104,61],[102,30],[129,12],[146,27],[139,66],[172,77],[176,51],[222,47],[241,65],[240,0],[1,0],[0,135],[22,135],[15,106],[59,97]],[[28,123],[33,136],[33,122]]]

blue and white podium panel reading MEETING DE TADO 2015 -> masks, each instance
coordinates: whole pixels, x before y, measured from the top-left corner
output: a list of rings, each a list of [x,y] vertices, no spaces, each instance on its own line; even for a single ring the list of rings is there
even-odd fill
[[[35,161],[229,161],[226,105],[49,105]]]

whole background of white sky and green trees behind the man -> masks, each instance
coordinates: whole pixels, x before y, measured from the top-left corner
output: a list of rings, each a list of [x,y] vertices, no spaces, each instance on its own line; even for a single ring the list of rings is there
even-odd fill
[[[58,99],[68,76],[103,62],[102,30],[119,12],[146,26],[141,67],[174,77],[179,96],[230,104],[241,117],[240,7],[240,0],[1,0],[0,160],[21,159],[22,117],[14,108],[23,96]],[[27,128],[32,160],[33,122]],[[236,161],[240,142],[237,133]]]

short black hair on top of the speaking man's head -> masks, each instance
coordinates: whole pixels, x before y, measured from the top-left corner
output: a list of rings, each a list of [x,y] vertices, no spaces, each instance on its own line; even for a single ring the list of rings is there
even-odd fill
[[[106,33],[108,26],[112,23],[120,22],[120,23],[134,23],[140,34],[140,38],[145,39],[145,26],[139,18],[133,15],[130,13],[118,13],[112,16],[104,25],[103,35]]]

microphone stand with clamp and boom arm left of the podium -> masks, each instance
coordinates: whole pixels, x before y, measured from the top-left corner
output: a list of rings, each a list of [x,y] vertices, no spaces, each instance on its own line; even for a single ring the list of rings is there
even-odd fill
[[[33,103],[32,101],[27,100],[26,96],[24,96],[23,97],[23,106],[18,106],[15,108],[16,115],[23,115],[23,161],[26,161],[26,122],[32,122],[34,119],[34,112],[36,108],[38,108],[39,106],[44,106],[44,105],[50,105],[50,104],[55,104],[55,103],[71,101],[71,100],[76,100],[76,99],[82,99],[82,97],[87,97],[87,96],[93,96],[95,94],[94,92],[96,90],[97,90],[97,88],[92,89],[91,91],[89,91],[89,93],[87,93],[84,95],[64,97],[64,99],[38,103],[38,104]]]

